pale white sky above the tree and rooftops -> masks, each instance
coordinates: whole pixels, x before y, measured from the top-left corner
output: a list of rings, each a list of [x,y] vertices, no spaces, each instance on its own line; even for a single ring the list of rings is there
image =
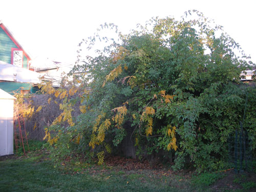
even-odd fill
[[[256,63],[255,5],[254,0],[0,0],[0,20],[32,59],[73,63],[79,42],[92,36],[100,24],[114,23],[129,33],[152,17],[179,20],[185,11],[196,9],[223,26]]]

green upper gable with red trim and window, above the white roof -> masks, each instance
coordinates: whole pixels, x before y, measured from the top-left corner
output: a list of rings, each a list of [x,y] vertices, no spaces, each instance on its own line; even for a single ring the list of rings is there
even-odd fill
[[[28,69],[30,56],[0,21],[0,60]]]

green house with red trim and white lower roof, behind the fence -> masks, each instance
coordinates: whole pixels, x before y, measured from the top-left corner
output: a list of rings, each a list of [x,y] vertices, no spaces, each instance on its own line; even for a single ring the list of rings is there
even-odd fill
[[[40,74],[29,70],[31,57],[0,20],[0,89],[33,93]]]

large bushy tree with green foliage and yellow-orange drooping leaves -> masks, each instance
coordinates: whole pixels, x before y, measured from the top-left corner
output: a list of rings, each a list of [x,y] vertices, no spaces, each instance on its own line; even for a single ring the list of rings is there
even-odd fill
[[[244,128],[254,139],[255,88],[240,82],[241,71],[250,67],[247,57],[220,26],[192,12],[193,19],[189,11],[181,21],[153,18],[130,34],[118,33],[120,42],[110,40],[99,56],[74,68],[88,72],[79,85],[90,94],[77,97],[81,114],[65,128],[73,139],[68,144],[76,138],[80,153],[102,163],[132,128],[138,156],[163,150],[175,153],[175,168],[188,160],[199,170],[215,169],[227,157],[227,138],[239,128],[247,93]],[[91,48],[96,37],[82,43]],[[54,94],[64,98],[68,92]],[[63,110],[70,109],[68,103]]]

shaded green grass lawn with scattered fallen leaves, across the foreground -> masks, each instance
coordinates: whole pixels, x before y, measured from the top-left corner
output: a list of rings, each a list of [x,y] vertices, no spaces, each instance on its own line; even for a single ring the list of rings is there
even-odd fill
[[[164,168],[127,170],[118,166],[67,162],[55,165],[40,150],[27,156],[1,157],[0,191],[256,191],[253,180],[249,181],[246,176],[242,180],[226,173],[193,176]],[[228,186],[230,182],[237,184],[236,187],[233,183]]]

